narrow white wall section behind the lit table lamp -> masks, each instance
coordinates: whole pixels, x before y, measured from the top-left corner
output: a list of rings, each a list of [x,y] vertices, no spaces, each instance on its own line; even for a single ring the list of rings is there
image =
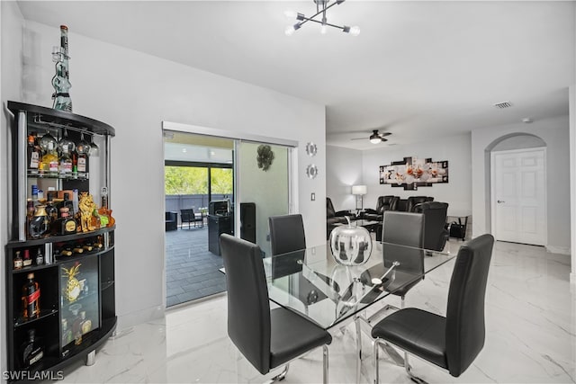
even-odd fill
[[[327,146],[326,158],[326,196],[335,210],[355,210],[356,197],[352,195],[352,185],[363,183],[362,151]]]

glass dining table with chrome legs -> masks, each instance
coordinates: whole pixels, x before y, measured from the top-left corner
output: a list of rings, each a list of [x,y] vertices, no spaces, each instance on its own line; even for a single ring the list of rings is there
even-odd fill
[[[356,321],[359,380],[362,351],[357,320],[361,313],[454,257],[448,252],[373,241],[372,253],[361,265],[338,263],[328,244],[266,257],[263,263],[269,298],[278,306],[326,330]]]

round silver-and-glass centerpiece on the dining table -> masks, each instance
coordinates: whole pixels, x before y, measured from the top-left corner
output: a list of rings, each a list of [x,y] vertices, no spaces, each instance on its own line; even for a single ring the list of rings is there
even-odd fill
[[[330,233],[330,251],[337,263],[362,265],[372,254],[372,237],[364,227],[353,226],[346,216],[347,225],[334,228]]]

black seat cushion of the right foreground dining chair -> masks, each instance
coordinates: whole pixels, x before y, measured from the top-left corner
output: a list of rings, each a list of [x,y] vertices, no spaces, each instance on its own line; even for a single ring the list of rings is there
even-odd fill
[[[372,328],[372,336],[387,340],[442,368],[448,368],[446,317],[418,308],[400,309],[376,324]]]

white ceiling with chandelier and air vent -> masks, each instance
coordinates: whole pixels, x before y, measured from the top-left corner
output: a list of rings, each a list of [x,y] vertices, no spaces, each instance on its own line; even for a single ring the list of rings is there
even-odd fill
[[[568,114],[575,83],[573,1],[359,1],[329,22],[353,37],[284,28],[301,1],[20,1],[25,19],[229,76],[327,106],[327,144],[389,143]],[[73,55],[74,42],[70,40]],[[112,59],[112,58],[111,58]],[[492,104],[509,101],[509,109]],[[366,140],[351,140],[363,138]]]

